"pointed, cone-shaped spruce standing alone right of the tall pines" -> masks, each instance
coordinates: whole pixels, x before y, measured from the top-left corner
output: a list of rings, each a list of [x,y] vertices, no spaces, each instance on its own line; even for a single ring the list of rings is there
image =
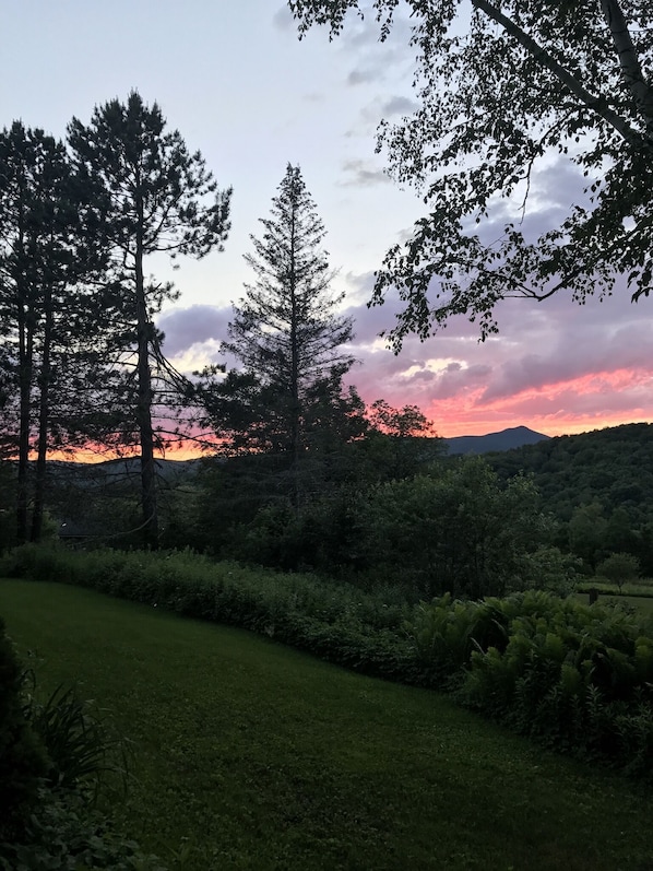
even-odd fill
[[[357,416],[363,424],[360,400],[342,386],[354,364],[343,349],[352,339],[352,320],[339,314],[343,294],[331,289],[324,226],[298,166],[288,164],[271,216],[261,225],[261,236],[250,237],[253,251],[245,257],[256,281],[246,284],[245,298],[234,306],[222,345],[240,368],[222,381],[204,373],[200,391],[227,448],[285,459],[297,509],[300,467],[311,448],[314,456],[313,431],[328,420],[340,425],[323,413],[324,403],[339,412],[335,416]]]

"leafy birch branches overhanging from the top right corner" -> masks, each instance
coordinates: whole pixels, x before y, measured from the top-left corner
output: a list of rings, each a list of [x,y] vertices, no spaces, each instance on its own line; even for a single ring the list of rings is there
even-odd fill
[[[419,108],[382,123],[392,174],[429,213],[393,247],[372,303],[399,291],[390,339],[423,340],[453,315],[497,331],[506,297],[583,302],[627,278],[653,287],[653,7],[649,0],[289,0],[300,32],[373,8],[384,39],[409,10]],[[567,216],[544,232],[523,222],[536,170],[551,152],[585,178]],[[573,196],[573,195],[571,195]]]

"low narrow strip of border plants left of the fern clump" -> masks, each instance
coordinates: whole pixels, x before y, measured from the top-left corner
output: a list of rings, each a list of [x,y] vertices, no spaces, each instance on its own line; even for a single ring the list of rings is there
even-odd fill
[[[403,632],[407,605],[312,575],[212,563],[197,554],[24,545],[0,558],[0,574],[47,578],[230,624],[369,675],[422,683]]]

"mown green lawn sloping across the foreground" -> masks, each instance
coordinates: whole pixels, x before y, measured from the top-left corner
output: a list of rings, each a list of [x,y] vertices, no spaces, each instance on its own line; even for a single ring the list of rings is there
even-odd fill
[[[0,581],[47,692],[134,746],[122,828],[179,871],[653,869],[651,792],[436,694],[59,584]]]

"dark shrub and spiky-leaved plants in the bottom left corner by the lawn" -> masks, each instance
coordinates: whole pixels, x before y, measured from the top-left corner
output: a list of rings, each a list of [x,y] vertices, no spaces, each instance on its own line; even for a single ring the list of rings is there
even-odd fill
[[[124,795],[126,742],[73,686],[40,688],[0,621],[0,869],[163,871],[97,805]]]

